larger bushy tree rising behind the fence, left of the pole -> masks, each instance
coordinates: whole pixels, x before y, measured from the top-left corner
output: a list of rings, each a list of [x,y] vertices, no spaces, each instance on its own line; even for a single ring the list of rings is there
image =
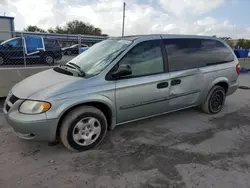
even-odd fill
[[[54,29],[50,28],[48,32],[61,34],[103,35],[100,28],[94,27],[91,24],[86,24],[79,20],[67,22],[63,27],[56,26]]]

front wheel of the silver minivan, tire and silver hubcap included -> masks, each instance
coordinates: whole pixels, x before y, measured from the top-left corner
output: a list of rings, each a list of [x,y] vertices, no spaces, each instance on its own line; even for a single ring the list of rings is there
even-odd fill
[[[81,106],[69,112],[63,119],[60,139],[69,150],[86,151],[102,142],[107,129],[106,117],[99,109]]]

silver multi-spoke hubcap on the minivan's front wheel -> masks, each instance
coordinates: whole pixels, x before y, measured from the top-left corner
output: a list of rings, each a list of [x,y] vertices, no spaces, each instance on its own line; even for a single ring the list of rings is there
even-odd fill
[[[101,124],[94,117],[80,120],[73,129],[73,139],[81,146],[88,146],[95,142],[101,134]]]

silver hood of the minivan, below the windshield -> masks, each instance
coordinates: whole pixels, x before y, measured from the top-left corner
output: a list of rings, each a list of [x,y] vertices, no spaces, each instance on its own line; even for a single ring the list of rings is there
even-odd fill
[[[56,90],[80,79],[83,78],[68,76],[62,73],[58,73],[53,69],[49,69],[34,74],[17,83],[12,88],[12,93],[19,98],[28,99],[36,93],[46,90],[48,96],[48,91],[50,92],[50,95],[52,95]],[[43,98],[47,96],[43,96]]]

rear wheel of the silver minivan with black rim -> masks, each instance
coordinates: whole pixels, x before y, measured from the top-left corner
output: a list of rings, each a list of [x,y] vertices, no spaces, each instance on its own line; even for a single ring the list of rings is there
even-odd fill
[[[217,114],[224,107],[225,99],[225,89],[221,86],[215,85],[209,91],[206,101],[201,105],[201,109],[208,114]]]

